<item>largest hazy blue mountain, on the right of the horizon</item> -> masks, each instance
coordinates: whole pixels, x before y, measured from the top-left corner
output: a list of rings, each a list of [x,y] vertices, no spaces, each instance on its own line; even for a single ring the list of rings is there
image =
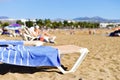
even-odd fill
[[[85,22],[116,22],[119,23],[120,19],[105,19],[99,16],[95,16],[95,17],[78,17],[78,18],[74,18],[73,20],[75,21],[85,21]]]

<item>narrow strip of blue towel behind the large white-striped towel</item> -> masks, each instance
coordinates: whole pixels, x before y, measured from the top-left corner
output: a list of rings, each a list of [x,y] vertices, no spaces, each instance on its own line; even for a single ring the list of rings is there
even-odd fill
[[[23,41],[21,40],[0,40],[0,45],[23,45]]]

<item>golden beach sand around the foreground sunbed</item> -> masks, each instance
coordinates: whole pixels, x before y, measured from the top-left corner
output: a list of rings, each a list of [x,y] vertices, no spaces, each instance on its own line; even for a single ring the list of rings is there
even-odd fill
[[[61,74],[56,68],[30,68],[0,64],[0,80],[120,80],[120,37],[108,37],[111,30],[96,30],[96,34],[88,34],[88,30],[56,30],[56,44],[45,45],[77,45],[90,51],[76,72]],[[1,39],[21,39],[0,36]],[[61,63],[70,69],[78,54],[68,54],[61,58]]]

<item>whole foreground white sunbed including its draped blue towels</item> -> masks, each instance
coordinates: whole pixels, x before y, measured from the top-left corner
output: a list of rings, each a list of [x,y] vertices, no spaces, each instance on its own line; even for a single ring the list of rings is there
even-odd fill
[[[28,67],[52,66],[57,67],[63,74],[66,74],[75,72],[89,52],[87,48],[75,45],[24,46],[23,43],[25,44],[25,42],[21,41],[15,43],[4,42],[4,44],[0,42],[0,45],[9,44],[0,47],[0,62]],[[64,70],[61,66],[60,56],[76,52],[80,53],[79,58],[69,71]]]

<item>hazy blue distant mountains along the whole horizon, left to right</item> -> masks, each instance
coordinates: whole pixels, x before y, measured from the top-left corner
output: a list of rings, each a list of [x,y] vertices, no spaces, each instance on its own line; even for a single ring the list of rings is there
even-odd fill
[[[10,19],[7,16],[0,16],[0,19]],[[54,21],[64,21],[66,19],[62,19],[62,18],[56,18],[54,19]],[[67,19],[68,20],[68,19]],[[120,23],[120,19],[105,19],[99,16],[95,16],[95,17],[77,17],[74,19],[71,19],[74,21],[81,21],[81,22],[113,22],[113,23]]]

